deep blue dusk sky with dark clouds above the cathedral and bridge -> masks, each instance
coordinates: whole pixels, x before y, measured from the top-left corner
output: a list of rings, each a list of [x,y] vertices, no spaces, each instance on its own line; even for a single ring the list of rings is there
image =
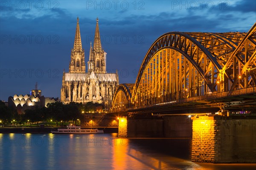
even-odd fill
[[[60,97],[79,16],[85,61],[96,17],[107,70],[134,83],[148,48],[166,32],[247,32],[256,22],[255,0],[0,0],[0,100],[28,94],[38,82]],[[87,64],[86,64],[87,69]]]

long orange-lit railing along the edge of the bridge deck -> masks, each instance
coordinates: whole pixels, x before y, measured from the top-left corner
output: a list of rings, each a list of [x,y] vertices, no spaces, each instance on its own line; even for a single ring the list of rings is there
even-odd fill
[[[256,93],[256,86],[252,87],[247,87],[247,88],[242,88],[242,89],[234,89],[232,91],[226,91],[226,92],[215,92],[207,95],[200,95],[200,96],[195,96],[192,98],[181,98],[173,101],[166,101],[166,102],[161,102],[157,104],[149,104],[149,105],[144,105],[144,106],[135,106],[128,108],[126,111],[133,110],[133,109],[143,109],[147,107],[154,107],[154,106],[165,106],[169,104],[177,104],[177,103],[188,103],[188,102],[193,102],[193,101],[203,101],[203,100],[212,100],[212,99],[217,99],[217,98],[224,98],[227,96],[236,96],[236,95],[245,95],[245,94],[250,94],[250,93]]]

